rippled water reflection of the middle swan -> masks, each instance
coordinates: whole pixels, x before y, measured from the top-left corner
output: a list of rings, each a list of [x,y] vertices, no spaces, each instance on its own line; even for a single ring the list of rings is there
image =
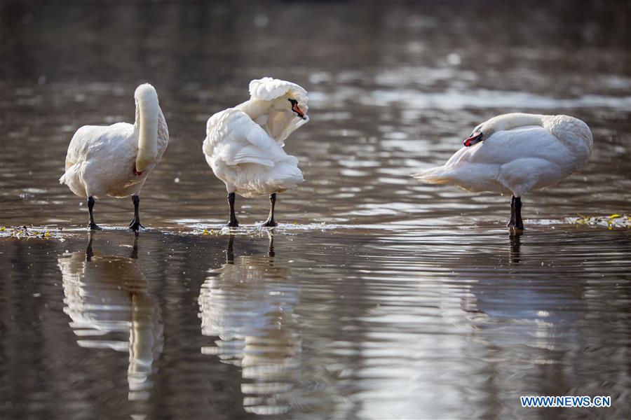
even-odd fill
[[[205,354],[241,367],[243,408],[255,414],[290,410],[297,380],[301,338],[293,307],[299,286],[290,270],[274,264],[273,237],[267,255],[234,257],[231,235],[226,263],[211,269],[201,286],[201,332],[216,337]]]

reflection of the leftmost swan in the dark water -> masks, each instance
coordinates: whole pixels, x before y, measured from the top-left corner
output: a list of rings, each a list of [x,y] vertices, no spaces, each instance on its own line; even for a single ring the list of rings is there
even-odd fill
[[[58,259],[71,328],[81,347],[129,353],[129,400],[148,400],[154,363],[162,353],[161,311],[149,293],[138,256],[138,237],[129,258],[93,253],[90,234],[86,252]],[[126,340],[114,337],[123,335]]]

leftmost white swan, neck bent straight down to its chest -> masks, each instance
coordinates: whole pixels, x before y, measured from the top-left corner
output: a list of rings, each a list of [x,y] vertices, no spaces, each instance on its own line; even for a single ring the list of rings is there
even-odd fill
[[[147,176],[162,158],[169,132],[153,86],[144,83],[134,92],[136,121],[133,125],[84,125],[74,133],[66,156],[66,173],[59,179],[79,197],[88,197],[88,228],[94,222],[94,199],[132,196],[134,218],[129,227],[142,228],[138,204]]]

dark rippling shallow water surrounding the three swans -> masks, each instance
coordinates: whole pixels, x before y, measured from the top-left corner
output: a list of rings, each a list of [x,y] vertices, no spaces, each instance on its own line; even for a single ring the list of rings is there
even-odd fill
[[[0,225],[53,232],[0,238],[3,418],[628,418],[631,234],[573,218],[629,213],[631,12],[581,5],[3,2]],[[306,182],[273,232],[238,197],[227,235],[205,120],[264,75],[309,91],[286,146]],[[90,235],[57,183],[67,144],[133,119],[144,81],[171,134],[147,230],[104,199]],[[523,235],[507,197],[409,178],[509,111],[595,138],[524,197]]]

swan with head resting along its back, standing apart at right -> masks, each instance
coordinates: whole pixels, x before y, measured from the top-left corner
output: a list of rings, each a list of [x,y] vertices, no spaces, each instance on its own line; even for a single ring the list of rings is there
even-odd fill
[[[474,192],[512,193],[508,228],[523,230],[522,195],[585,165],[593,140],[577,118],[508,113],[475,127],[463,144],[445,165],[412,176]]]

